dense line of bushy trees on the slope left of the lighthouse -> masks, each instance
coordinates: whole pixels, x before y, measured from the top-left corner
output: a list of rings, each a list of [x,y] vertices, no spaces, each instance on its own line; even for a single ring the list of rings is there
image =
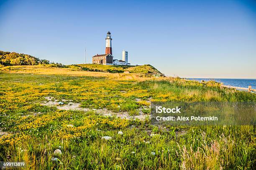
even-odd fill
[[[54,64],[57,66],[63,66],[61,63],[53,63],[49,60],[40,60],[32,55],[17,53],[17,52],[5,52],[0,50],[0,65],[38,65],[38,64]]]

